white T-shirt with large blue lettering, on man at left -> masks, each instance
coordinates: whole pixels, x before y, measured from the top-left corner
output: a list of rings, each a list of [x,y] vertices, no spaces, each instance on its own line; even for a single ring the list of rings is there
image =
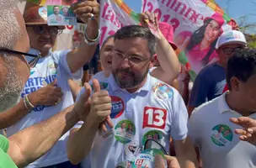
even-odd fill
[[[19,132],[22,129],[26,129],[35,123],[51,118],[61,110],[71,106],[74,101],[72,97],[71,89],[67,83],[67,79],[74,78],[79,79],[83,75],[83,70],[77,71],[76,73],[71,72],[67,65],[67,53],[69,50],[61,50],[49,53],[48,56],[40,58],[35,68],[31,69],[28,81],[25,84],[24,91],[21,97],[25,94],[35,92],[40,87],[45,87],[47,84],[57,80],[57,87],[61,87],[61,91],[64,93],[63,100],[56,106],[45,107],[38,106],[35,110],[28,113],[18,123],[14,124],[7,129],[8,136]],[[29,53],[37,54],[37,50],[30,50]],[[40,132],[38,133],[40,134]],[[42,167],[47,165],[56,165],[61,162],[67,161],[66,143],[68,139],[69,131],[64,134],[61,139],[51,148],[51,150],[39,160],[28,165],[32,167]],[[31,141],[31,143],[33,143]]]

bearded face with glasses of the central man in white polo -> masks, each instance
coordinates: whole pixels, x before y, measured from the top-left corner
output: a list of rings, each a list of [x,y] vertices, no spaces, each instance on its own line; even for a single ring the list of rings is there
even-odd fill
[[[150,60],[146,39],[140,37],[116,39],[112,59],[115,81],[129,92],[136,91],[146,79]]]

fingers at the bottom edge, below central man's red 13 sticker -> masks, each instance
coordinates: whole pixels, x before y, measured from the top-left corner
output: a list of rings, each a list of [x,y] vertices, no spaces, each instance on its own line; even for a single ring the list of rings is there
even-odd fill
[[[179,161],[176,157],[165,155],[165,159],[167,160],[167,168],[180,168]],[[155,168],[165,168],[164,160],[161,155],[155,156]]]

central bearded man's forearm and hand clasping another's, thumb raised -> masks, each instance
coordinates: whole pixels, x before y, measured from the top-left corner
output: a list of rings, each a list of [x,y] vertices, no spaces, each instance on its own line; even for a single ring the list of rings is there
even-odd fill
[[[92,92],[92,88],[88,83],[85,83],[85,95]],[[110,127],[113,127],[109,119],[111,113],[111,98],[109,92],[102,91],[100,89],[99,81],[93,80],[93,95],[88,99],[86,104],[90,104],[89,113],[78,114],[79,118],[84,118],[83,125],[80,129],[72,129],[70,137],[67,142],[67,156],[73,164],[78,164],[80,160],[83,160],[91,151],[93,146],[93,139],[97,133],[99,126],[106,131],[106,126],[102,123],[106,122]],[[86,96],[84,96],[86,97]],[[78,111],[79,107],[83,106],[83,97],[75,106],[75,110]],[[74,146],[73,144],[79,144]],[[77,155],[79,154],[79,155]]]

